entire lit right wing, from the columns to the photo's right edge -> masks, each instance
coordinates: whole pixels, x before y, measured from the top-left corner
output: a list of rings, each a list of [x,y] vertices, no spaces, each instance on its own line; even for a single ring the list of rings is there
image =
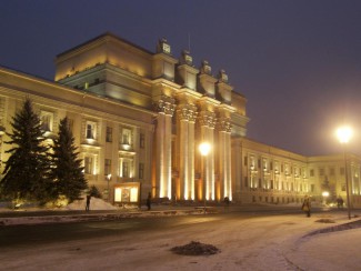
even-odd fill
[[[345,201],[348,172],[351,202],[360,207],[360,158],[353,154],[347,155],[345,163],[343,154],[303,157],[247,138],[233,139],[234,200],[300,203],[304,195],[311,195],[318,202],[335,202],[339,197]],[[328,199],[322,198],[324,191],[329,192]]]

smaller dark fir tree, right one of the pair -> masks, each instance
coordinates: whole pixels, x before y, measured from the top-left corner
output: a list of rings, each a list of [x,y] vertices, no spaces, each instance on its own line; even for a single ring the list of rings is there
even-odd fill
[[[56,194],[67,197],[70,202],[79,199],[88,188],[78,154],[69,120],[64,118],[60,121],[59,134],[53,144],[52,179],[56,181]]]

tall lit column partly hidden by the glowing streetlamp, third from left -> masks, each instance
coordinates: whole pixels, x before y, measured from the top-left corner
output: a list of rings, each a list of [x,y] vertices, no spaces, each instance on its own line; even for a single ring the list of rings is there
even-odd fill
[[[205,199],[214,200],[215,199],[215,183],[214,183],[214,126],[215,126],[215,113],[210,111],[201,111],[200,118],[200,141],[208,142],[211,145],[210,153],[204,158],[204,171],[207,180],[205,185]]]

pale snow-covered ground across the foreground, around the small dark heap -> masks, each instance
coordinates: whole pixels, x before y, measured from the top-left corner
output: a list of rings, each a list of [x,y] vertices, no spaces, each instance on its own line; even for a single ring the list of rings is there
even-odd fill
[[[82,203],[79,203],[79,207]],[[335,223],[317,222],[320,219]],[[351,221],[357,221],[353,218]],[[210,223],[204,223],[210,222]],[[345,211],[332,214],[273,215],[220,220],[194,215],[193,223],[166,231],[23,247],[0,253],[2,270],[361,270],[361,228],[310,234],[348,223]],[[90,223],[109,230],[121,223]],[[177,245],[212,244],[213,255],[179,255]]]

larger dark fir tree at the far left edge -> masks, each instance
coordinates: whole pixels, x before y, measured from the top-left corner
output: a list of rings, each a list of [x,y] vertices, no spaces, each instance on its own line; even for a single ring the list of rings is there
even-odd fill
[[[11,144],[0,181],[1,193],[11,200],[30,200],[44,203],[49,199],[49,147],[46,144],[39,116],[33,111],[30,99],[22,110],[12,118]]]

